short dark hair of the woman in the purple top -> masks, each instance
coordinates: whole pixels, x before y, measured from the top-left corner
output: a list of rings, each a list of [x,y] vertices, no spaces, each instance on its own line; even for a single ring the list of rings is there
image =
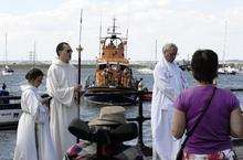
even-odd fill
[[[212,50],[198,50],[192,55],[192,75],[198,82],[213,83],[218,76],[218,55]]]

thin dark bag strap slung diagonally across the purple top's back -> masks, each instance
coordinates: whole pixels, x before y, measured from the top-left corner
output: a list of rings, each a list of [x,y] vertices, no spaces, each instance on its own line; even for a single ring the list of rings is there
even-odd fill
[[[191,128],[191,130],[187,131],[187,137],[184,138],[183,142],[181,143],[181,149],[183,149],[186,147],[186,142],[188,141],[189,137],[192,136],[192,134],[194,132],[196,128],[198,127],[198,125],[200,124],[202,117],[205,115],[205,111],[208,110],[211,102],[212,102],[212,98],[213,98],[213,95],[215,93],[215,89],[216,87],[213,87],[213,92],[212,92],[212,95],[210,96],[209,100],[207,102],[207,105],[205,107],[201,107],[202,108],[202,114],[198,117],[194,126]]]

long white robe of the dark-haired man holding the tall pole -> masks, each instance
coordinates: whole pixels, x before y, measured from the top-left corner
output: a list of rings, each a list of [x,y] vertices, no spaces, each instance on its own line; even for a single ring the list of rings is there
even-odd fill
[[[76,68],[56,58],[52,62],[46,76],[50,104],[50,128],[57,157],[61,160],[66,150],[75,143],[75,137],[67,127],[77,117],[77,104],[74,99],[74,86],[77,84]]]

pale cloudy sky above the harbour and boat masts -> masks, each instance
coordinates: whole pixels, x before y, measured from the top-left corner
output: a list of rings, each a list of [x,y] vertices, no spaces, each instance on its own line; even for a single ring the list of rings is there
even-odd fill
[[[95,60],[102,36],[116,18],[118,32],[126,36],[127,57],[155,61],[162,45],[176,43],[177,60],[191,58],[198,49],[215,51],[220,60],[243,60],[242,0],[0,0],[0,61],[38,61],[56,57],[55,47],[68,42],[78,46],[83,9],[82,60]],[[77,52],[73,52],[77,60]]]

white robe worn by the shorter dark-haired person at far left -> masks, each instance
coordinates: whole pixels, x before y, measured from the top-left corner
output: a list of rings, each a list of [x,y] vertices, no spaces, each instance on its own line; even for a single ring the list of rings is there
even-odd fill
[[[59,160],[49,126],[49,108],[41,104],[38,88],[22,85],[22,115],[17,131],[13,160]]]

